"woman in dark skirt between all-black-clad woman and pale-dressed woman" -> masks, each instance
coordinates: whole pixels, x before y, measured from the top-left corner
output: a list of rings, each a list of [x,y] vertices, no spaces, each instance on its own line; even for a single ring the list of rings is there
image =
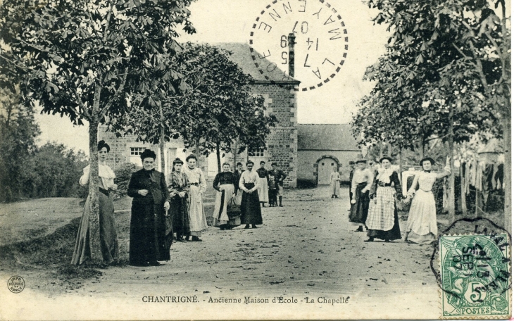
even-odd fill
[[[177,233],[177,241],[185,242],[184,235],[189,235],[189,181],[182,172],[182,165],[184,162],[180,158],[173,160],[173,171],[168,175],[168,191],[173,230]]]

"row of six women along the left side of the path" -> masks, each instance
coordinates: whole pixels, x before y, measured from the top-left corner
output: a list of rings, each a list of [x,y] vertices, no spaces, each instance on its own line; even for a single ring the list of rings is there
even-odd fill
[[[99,155],[99,239],[104,262],[118,260],[118,236],[114,220],[111,191],[117,188],[115,174],[106,165],[110,146],[98,143]],[[207,229],[203,211],[203,193],[206,180],[196,168],[196,156],[187,156],[187,165],[180,158],[173,161],[173,170],[165,178],[155,170],[156,153],[146,149],[141,154],[143,168],[130,177],[127,195],[132,197],[130,219],[129,264],[134,266],[161,265],[158,261],[170,260],[170,246],[174,233],[177,241],[202,241],[201,232]],[[238,164],[239,165],[239,164]],[[223,164],[223,172],[216,175],[213,187],[218,192],[213,212],[214,225],[221,229],[246,224],[256,228],[262,224],[258,199],[258,175],[252,171],[253,162],[246,163],[247,170],[230,172],[230,165]],[[80,184],[89,184],[90,168],[84,168]],[[239,194],[239,197],[237,196]],[[230,205],[234,204],[232,208]],[[236,208],[236,215],[228,216]],[[91,195],[87,196],[71,263],[80,265],[91,258],[90,220]],[[192,237],[192,239],[190,239]]]

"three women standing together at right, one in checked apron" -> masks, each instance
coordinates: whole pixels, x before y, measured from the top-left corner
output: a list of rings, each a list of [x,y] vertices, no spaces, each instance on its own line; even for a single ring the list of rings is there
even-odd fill
[[[420,161],[422,171],[415,175],[413,184],[403,197],[399,175],[391,169],[392,159],[382,157],[380,168],[371,176],[370,169],[365,168],[365,160],[361,168],[353,172],[351,187],[351,210],[349,219],[360,225],[357,231],[368,229],[367,242],[382,239],[386,242],[402,239],[398,220],[397,202],[412,201],[406,225],[404,241],[430,244],[437,236],[436,206],[432,187],[434,182],[448,176],[450,169],[444,172],[432,172],[435,161],[423,158]],[[419,186],[419,189],[418,189]]]

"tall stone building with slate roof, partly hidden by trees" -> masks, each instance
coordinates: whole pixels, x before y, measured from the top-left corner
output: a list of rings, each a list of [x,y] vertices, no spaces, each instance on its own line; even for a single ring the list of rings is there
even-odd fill
[[[278,68],[272,73],[267,73],[268,79],[266,79],[255,67],[250,54],[250,47],[247,44],[228,43],[216,44],[216,46],[232,52],[229,56],[230,60],[237,63],[244,73],[253,77],[253,92],[264,97],[266,112],[275,115],[278,120],[275,127],[271,128],[266,149],[246,151],[237,155],[237,158],[227,154],[222,157],[222,163],[226,161],[232,164],[232,168],[234,168],[234,161],[245,163],[247,159],[251,159],[258,166],[258,163],[264,160],[268,163],[269,168],[269,163],[276,162],[278,168],[287,174],[284,185],[296,187],[298,132],[296,92],[294,89],[298,88],[300,82],[292,80],[290,77],[289,80],[283,80],[284,71]],[[158,168],[160,168],[161,158],[158,146],[135,141],[134,137],[130,136],[116,138],[114,134],[106,132],[105,127],[99,128],[99,139],[104,139],[111,145],[110,159],[108,160],[108,165],[111,168],[116,168],[120,163],[125,162],[141,164],[139,155],[145,148],[156,151],[158,154]],[[167,143],[165,146],[166,174],[171,170],[173,159],[180,157],[185,160],[189,153],[189,151],[184,151],[184,145],[180,139]],[[214,176],[218,172],[215,154],[204,158],[200,161],[200,164],[203,172],[208,176]]]

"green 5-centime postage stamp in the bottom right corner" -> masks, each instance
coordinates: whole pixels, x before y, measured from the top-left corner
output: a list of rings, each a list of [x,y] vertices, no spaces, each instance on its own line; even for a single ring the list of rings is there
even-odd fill
[[[439,249],[443,319],[509,317],[507,234],[443,235]]]

